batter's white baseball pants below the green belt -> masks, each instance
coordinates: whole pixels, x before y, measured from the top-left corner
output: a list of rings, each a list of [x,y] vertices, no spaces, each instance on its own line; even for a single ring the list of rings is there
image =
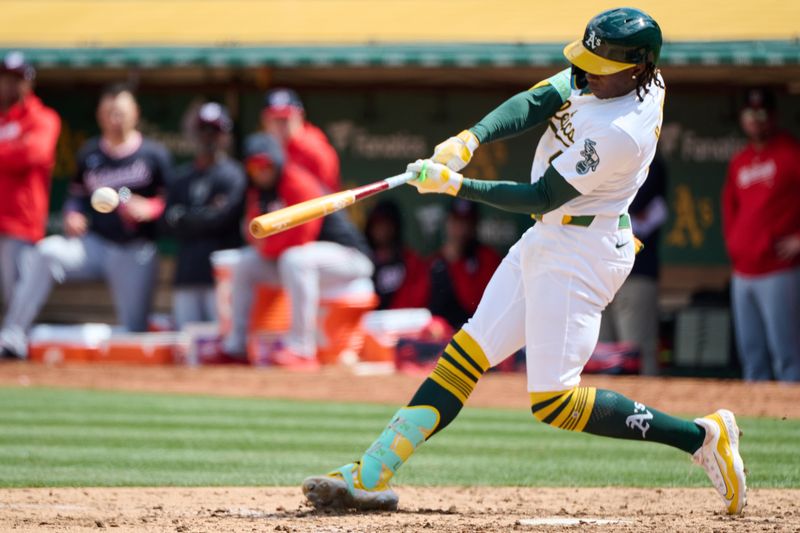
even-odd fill
[[[602,311],[633,267],[633,234],[616,229],[617,218],[589,227],[537,223],[509,250],[464,326],[492,366],[526,347],[529,392],[580,383]]]

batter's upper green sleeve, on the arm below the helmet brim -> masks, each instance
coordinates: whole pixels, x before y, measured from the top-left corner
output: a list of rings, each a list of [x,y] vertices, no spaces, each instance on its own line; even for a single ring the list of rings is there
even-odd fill
[[[563,70],[531,89],[512,96],[470,128],[478,141],[506,139],[546,121],[569,98],[570,71]]]

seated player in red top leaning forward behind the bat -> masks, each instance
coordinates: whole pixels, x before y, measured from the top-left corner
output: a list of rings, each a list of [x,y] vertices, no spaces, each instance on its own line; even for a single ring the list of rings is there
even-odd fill
[[[245,142],[245,158],[252,185],[245,199],[247,220],[323,194],[314,176],[286,158],[280,142],[270,135],[251,135]],[[316,367],[322,290],[360,279],[371,286],[373,266],[364,236],[344,211],[337,211],[267,239],[250,234],[248,238],[251,246],[244,249],[233,271],[233,327],[223,342],[225,355],[244,362],[253,287],[266,283],[283,287],[292,309],[291,327],[273,347],[271,364]]]

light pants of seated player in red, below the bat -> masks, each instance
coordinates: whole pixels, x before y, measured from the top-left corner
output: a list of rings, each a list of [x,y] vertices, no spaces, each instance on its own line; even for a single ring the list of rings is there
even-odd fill
[[[372,261],[354,248],[334,242],[314,241],[287,249],[275,260],[265,259],[255,248],[245,248],[233,270],[232,328],[224,341],[228,353],[244,353],[255,286],[278,285],[289,295],[292,325],[283,341],[300,355],[317,352],[317,311],[320,293],[370,277]]]

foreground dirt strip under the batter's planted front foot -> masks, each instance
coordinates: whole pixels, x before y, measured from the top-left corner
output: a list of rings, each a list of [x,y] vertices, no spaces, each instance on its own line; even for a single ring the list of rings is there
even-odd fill
[[[0,527],[70,533],[800,530],[800,491],[752,491],[746,513],[737,518],[719,512],[711,491],[400,487],[396,513],[327,514],[301,505],[298,489],[285,487],[17,489],[0,492]],[[597,520],[610,523],[593,525]]]

